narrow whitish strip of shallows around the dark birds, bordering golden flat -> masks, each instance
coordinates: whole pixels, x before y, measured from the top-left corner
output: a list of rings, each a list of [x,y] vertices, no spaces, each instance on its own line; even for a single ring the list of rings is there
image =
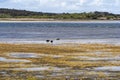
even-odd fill
[[[53,45],[59,44],[110,44],[110,45],[120,45],[119,39],[62,39],[53,40]],[[5,44],[51,44],[47,43],[46,40],[1,40],[0,43]]]

